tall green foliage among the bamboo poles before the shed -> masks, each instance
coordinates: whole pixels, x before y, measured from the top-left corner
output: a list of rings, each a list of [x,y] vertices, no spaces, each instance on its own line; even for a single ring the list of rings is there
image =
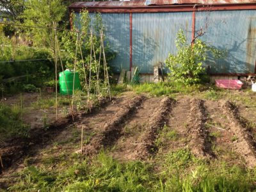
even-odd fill
[[[74,30],[64,31],[61,38],[63,48],[66,51],[64,57],[66,67],[74,69],[74,64],[76,62],[76,71],[79,73],[82,86],[85,88],[86,81],[88,82],[89,77],[91,77],[92,92],[95,92],[97,70],[99,70],[100,84],[104,81],[103,52],[101,49],[100,38],[100,31],[104,31],[102,19],[100,13],[95,13],[93,19],[90,19],[88,12],[83,10],[79,14],[72,13],[72,20],[74,23]],[[102,38],[104,39],[104,36]],[[104,51],[106,54],[106,62],[108,63],[108,61],[115,57],[115,53],[111,51],[108,44],[104,45]]]

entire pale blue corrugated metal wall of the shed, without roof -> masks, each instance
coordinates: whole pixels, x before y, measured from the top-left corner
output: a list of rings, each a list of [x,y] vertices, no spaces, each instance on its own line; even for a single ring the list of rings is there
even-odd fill
[[[90,13],[91,17],[93,13]],[[207,29],[200,37],[205,42],[227,51],[227,58],[210,56],[205,67],[211,74],[253,74],[256,60],[256,11],[196,12],[195,29]],[[116,58],[110,65],[115,72],[129,70],[129,13],[102,13],[106,38]],[[177,52],[175,38],[183,29],[191,41],[192,12],[132,13],[132,65],[143,74],[164,63],[168,53]],[[168,70],[165,71],[168,72]]]

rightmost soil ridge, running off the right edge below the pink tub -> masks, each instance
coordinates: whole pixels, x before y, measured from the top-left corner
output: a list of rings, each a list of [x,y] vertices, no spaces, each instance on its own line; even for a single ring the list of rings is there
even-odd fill
[[[256,142],[252,127],[248,127],[248,122],[239,115],[237,107],[229,101],[223,104],[223,113],[230,122],[230,130],[237,136],[236,143],[234,142],[236,151],[244,157],[248,166],[255,166]]]

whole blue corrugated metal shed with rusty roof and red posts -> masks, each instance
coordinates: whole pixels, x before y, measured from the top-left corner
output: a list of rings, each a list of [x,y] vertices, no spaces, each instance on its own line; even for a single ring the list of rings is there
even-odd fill
[[[69,6],[70,12],[77,14],[83,8],[92,17],[101,13],[106,37],[117,53],[110,63],[115,72],[138,66],[141,74],[153,74],[155,65],[164,63],[169,52],[177,51],[179,29],[190,41],[196,30],[207,28],[200,38],[227,51],[227,58],[205,62],[211,75],[256,74],[255,0],[102,1]]]

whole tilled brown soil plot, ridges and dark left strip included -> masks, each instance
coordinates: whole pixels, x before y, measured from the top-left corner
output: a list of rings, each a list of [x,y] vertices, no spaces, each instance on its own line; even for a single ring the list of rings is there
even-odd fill
[[[44,148],[44,143],[52,143],[69,124],[71,116],[58,120],[47,131],[38,129],[31,138],[1,145],[4,168],[13,166],[33,149]],[[157,152],[189,148],[198,157],[239,162],[241,158],[250,167],[256,165],[255,127],[230,102],[123,95],[97,113],[77,115],[74,125],[83,128],[84,156],[94,156],[107,148],[111,156],[121,161],[147,160]],[[80,138],[77,136],[77,144]],[[231,151],[235,156],[230,160],[227,153]]]

